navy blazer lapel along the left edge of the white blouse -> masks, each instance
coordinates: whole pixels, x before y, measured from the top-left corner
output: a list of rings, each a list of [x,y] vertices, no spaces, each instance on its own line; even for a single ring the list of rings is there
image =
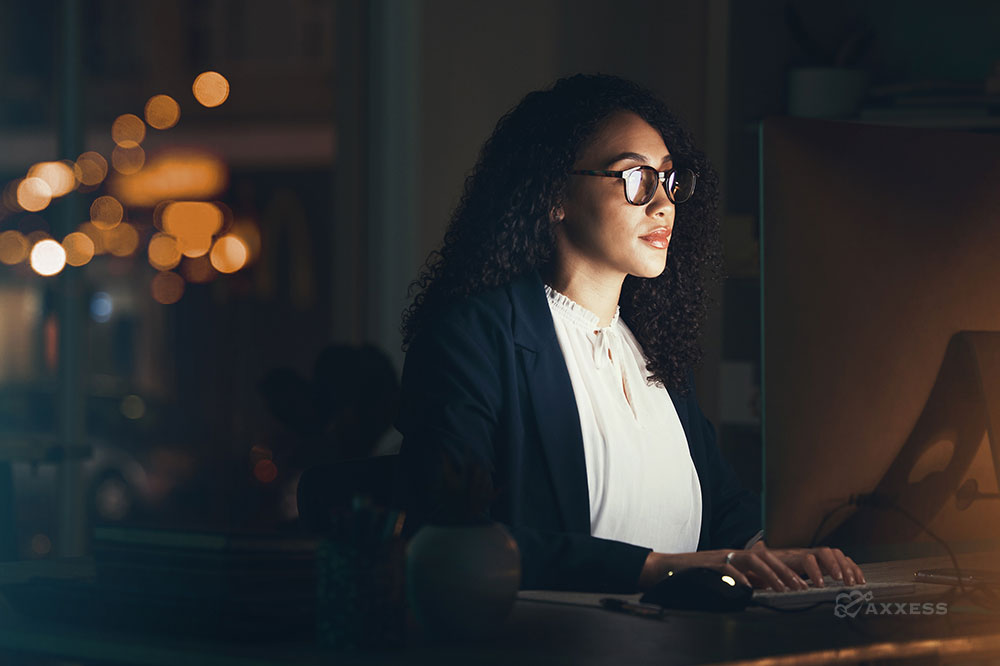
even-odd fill
[[[510,286],[514,347],[527,382],[563,525],[590,534],[590,492],[573,384],[537,271]]]

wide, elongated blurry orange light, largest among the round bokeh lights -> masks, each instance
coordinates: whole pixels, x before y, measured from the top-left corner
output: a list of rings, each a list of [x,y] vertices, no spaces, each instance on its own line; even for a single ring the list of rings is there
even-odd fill
[[[172,150],[150,158],[140,173],[114,179],[109,191],[130,206],[151,208],[168,199],[217,197],[228,181],[225,163],[214,155]]]

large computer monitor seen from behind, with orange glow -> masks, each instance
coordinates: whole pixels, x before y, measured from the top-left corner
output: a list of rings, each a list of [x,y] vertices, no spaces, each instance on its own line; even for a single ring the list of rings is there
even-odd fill
[[[775,118],[760,147],[769,545],[1000,547],[972,489],[1000,476],[1000,136]]]

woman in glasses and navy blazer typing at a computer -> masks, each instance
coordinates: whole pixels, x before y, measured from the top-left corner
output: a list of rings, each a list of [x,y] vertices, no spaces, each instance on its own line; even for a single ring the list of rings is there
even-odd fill
[[[621,78],[561,79],[500,119],[404,314],[409,533],[497,520],[522,588],[633,593],[686,566],[864,581],[838,549],[767,548],[698,407],[717,188],[676,117]]]

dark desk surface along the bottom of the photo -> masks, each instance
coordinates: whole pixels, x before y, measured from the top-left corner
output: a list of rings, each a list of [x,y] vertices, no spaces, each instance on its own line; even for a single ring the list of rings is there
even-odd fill
[[[995,566],[997,554],[959,555],[969,568]],[[0,582],[24,579],[31,564],[0,564]],[[863,564],[871,582],[909,580],[918,568],[949,566],[947,557]],[[20,566],[20,571],[18,571]],[[78,562],[77,573],[86,570]],[[905,601],[932,600],[946,591],[921,584]],[[865,615],[838,618],[832,604],[801,613],[748,609],[739,613],[670,612],[651,620],[600,607],[603,594],[522,591],[497,636],[475,642],[435,644],[408,634],[402,651],[335,653],[314,645],[237,645],[86,631],[17,617],[0,607],[0,662],[42,655],[85,663],[176,666],[271,666],[279,664],[813,664],[963,663],[1000,660],[1000,614],[966,601],[943,615]],[[617,595],[616,595],[617,596]],[[634,601],[639,595],[621,596]],[[876,602],[886,601],[876,597]],[[414,627],[411,625],[411,629]],[[897,661],[898,660],[898,661]],[[17,663],[17,662],[15,662]],[[31,663],[25,660],[24,663]],[[985,662],[984,662],[985,663]]]

